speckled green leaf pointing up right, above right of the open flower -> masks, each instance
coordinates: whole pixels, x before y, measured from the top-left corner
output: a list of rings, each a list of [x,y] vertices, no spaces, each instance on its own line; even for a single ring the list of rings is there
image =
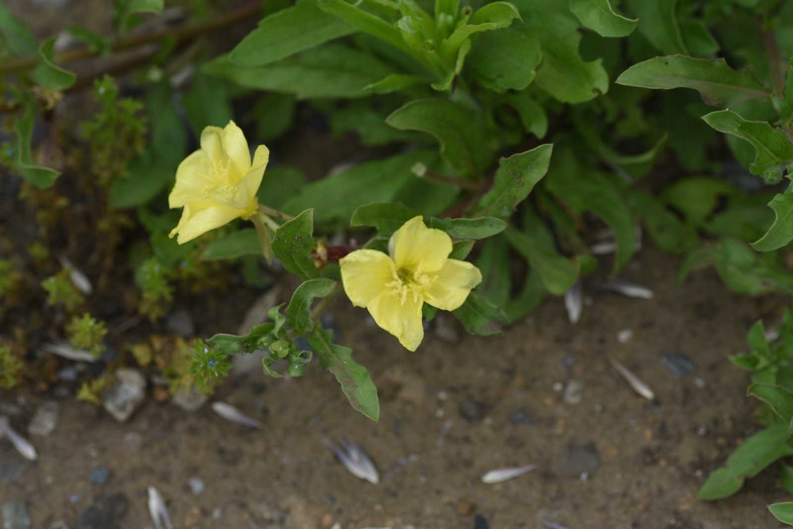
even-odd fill
[[[548,172],[553,150],[554,145],[546,143],[509,158],[501,158],[492,188],[477,203],[477,214],[511,215]]]

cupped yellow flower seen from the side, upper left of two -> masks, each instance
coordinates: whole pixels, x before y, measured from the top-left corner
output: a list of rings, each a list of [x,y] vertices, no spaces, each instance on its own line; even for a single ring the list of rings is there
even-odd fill
[[[233,121],[225,128],[205,127],[201,149],[176,169],[168,205],[184,210],[169,237],[178,234],[183,244],[237,217],[250,219],[259,207],[256,192],[269,158],[270,150],[260,145],[251,163],[243,131]]]

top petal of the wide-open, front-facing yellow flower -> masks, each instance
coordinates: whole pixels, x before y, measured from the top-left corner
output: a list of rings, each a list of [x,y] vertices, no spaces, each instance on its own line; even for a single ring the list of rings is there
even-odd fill
[[[420,215],[404,223],[389,241],[389,253],[397,263],[397,270],[413,274],[440,270],[451,253],[449,234],[424,225]]]

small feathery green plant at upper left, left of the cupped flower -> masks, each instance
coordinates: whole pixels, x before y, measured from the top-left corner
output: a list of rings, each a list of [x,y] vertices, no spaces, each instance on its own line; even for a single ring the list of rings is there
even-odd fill
[[[100,185],[123,175],[127,164],[146,147],[146,122],[138,112],[143,104],[128,97],[118,98],[113,78],[105,75],[94,82],[94,98],[102,105],[93,119],[82,124],[90,143],[91,173]]]

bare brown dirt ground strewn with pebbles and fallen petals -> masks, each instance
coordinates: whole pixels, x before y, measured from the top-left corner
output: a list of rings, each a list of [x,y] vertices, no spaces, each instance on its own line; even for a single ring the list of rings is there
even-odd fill
[[[39,461],[22,463],[17,482],[0,483],[0,498],[26,502],[36,529],[59,519],[75,527],[90,504],[117,493],[128,500],[117,527],[151,527],[149,485],[163,493],[176,527],[777,527],[764,507],[786,498],[776,467],[727,500],[695,493],[759,428],[744,397],[748,375],[727,356],[745,351],[746,329],[778,315],[782,300],[734,295],[707,272],[677,284],[676,265],[643,249],[623,276],[654,299],[587,291],[592,305],[578,325],[560,299],[548,299],[503,336],[452,344],[430,332],[415,353],[339,303],[339,339],[374,374],[379,423],[354,412],[320,371],[302,379],[253,372],[220,387],[216,398],[263,421],[263,431],[209,406],[187,413],[151,398],[119,424],[66,398],[55,432],[31,436]],[[624,344],[623,329],[633,331]],[[694,371],[675,379],[661,362],[669,353],[688,356]],[[648,383],[657,401],[635,394],[607,356]],[[577,403],[567,390],[573,381],[581,383]],[[44,398],[57,396],[0,394],[21,410],[12,420],[23,432]],[[354,478],[322,436],[359,443],[381,482]],[[0,442],[0,466],[21,461]],[[511,481],[480,481],[488,470],[530,463],[537,470]],[[110,478],[94,485],[90,471],[100,466]],[[200,495],[192,477],[205,484]]]

